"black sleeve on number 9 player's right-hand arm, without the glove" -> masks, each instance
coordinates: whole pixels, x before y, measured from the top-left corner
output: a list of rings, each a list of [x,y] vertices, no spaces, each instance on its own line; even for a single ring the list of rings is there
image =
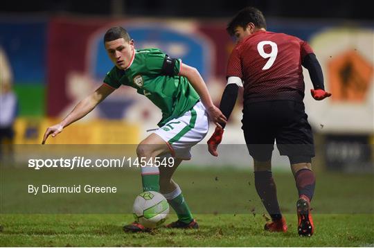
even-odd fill
[[[325,90],[321,65],[319,64],[316,55],[314,53],[306,55],[303,59],[302,65],[308,69],[314,89]]]

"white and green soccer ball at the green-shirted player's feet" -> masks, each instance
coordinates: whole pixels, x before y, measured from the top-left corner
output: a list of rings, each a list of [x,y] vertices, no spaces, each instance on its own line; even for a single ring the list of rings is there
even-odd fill
[[[169,213],[169,204],[160,193],[145,191],[135,198],[132,212],[139,224],[154,229],[165,222]]]

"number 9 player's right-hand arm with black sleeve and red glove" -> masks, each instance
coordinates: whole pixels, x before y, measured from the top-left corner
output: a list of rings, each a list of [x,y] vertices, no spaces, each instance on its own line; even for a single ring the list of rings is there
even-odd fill
[[[331,94],[325,91],[325,86],[323,85],[323,73],[321,65],[319,64],[317,57],[314,53],[309,53],[303,57],[303,67],[308,69],[310,79],[314,89],[310,90],[310,94],[315,100],[323,100],[330,97]]]

